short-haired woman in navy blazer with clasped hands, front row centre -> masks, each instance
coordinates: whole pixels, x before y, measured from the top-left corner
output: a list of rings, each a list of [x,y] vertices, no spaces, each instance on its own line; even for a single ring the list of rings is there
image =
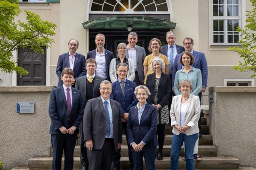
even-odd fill
[[[135,88],[139,103],[132,106],[127,121],[127,138],[132,146],[133,169],[142,170],[145,159],[146,168],[155,170],[155,153],[157,147],[157,110],[147,103],[150,92],[146,86]]]

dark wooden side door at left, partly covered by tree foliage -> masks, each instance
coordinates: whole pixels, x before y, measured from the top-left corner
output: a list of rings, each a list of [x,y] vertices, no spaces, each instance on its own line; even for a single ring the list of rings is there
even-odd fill
[[[29,72],[28,75],[18,74],[18,86],[45,86],[46,80],[46,47],[44,54],[35,53],[33,49],[18,49],[18,65]]]

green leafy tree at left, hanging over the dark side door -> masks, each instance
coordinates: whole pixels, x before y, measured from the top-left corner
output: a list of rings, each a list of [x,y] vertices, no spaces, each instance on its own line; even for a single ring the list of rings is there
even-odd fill
[[[35,52],[43,53],[41,46],[50,47],[55,35],[56,24],[41,20],[40,16],[26,13],[27,22],[14,22],[20,14],[18,0],[0,0],[0,70],[6,73],[28,74],[28,71],[19,67],[12,52],[18,48],[30,48]]]

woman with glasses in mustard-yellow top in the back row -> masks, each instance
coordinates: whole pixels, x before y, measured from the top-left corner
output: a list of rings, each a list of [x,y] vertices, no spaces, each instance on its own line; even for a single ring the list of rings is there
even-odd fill
[[[153,58],[162,58],[162,60],[164,61],[165,64],[165,68],[163,69],[164,73],[169,73],[169,60],[168,58],[161,54],[162,51],[162,47],[161,47],[161,41],[158,38],[153,38],[149,41],[149,46],[148,46],[148,50],[151,53],[150,55],[146,56],[143,66],[144,66],[144,74],[145,74],[145,80],[144,80],[144,84],[146,84],[146,80],[147,80],[147,76],[148,74],[152,74],[154,73],[154,71],[151,71],[149,69]]]

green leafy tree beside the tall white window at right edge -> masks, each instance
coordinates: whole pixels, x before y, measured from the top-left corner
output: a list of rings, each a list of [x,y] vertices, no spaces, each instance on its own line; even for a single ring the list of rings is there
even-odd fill
[[[254,77],[256,74],[256,0],[250,0],[252,3],[252,11],[246,11],[246,25],[242,29],[238,27],[237,31],[241,33],[242,40],[239,40],[239,44],[242,47],[230,47],[229,50],[237,52],[243,62],[239,61],[237,66],[234,66],[235,70],[240,72],[253,71]]]

